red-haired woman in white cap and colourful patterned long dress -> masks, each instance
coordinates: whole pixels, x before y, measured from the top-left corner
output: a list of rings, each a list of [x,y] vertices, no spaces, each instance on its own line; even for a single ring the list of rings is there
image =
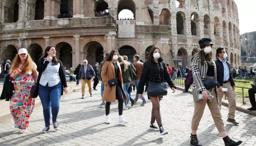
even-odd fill
[[[32,61],[27,49],[19,49],[12,62],[10,78],[14,83],[14,94],[10,98],[10,111],[16,128],[25,133],[29,126],[35,101],[30,97],[30,89],[37,80],[37,66]]]

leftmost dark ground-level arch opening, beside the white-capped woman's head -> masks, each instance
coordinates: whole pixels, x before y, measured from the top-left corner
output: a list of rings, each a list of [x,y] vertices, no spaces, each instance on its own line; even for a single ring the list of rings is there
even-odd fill
[[[15,55],[18,54],[18,50],[17,50],[17,46],[15,46],[14,44],[9,44],[7,46],[5,46],[5,49],[3,51],[2,54],[2,58],[4,60],[13,60]]]

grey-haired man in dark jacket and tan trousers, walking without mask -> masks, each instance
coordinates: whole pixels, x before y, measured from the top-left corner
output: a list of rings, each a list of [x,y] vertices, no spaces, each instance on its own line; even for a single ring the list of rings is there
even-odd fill
[[[81,79],[82,82],[82,99],[84,99],[84,94],[85,94],[85,85],[87,83],[89,87],[89,93],[90,96],[93,96],[91,94],[91,78],[95,78],[95,72],[94,69],[91,65],[88,64],[87,60],[83,60],[83,65],[81,66],[79,70],[79,78]]]

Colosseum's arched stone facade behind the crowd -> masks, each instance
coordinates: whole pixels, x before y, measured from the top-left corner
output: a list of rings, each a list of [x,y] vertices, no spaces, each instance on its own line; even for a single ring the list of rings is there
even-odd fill
[[[133,18],[118,15],[129,10]],[[68,67],[103,60],[119,50],[145,60],[152,45],[171,66],[189,66],[198,40],[224,47],[233,67],[241,65],[239,20],[233,0],[0,0],[0,61],[27,48],[37,62],[48,45]],[[96,12],[108,12],[96,17]],[[107,15],[105,15],[107,14]]]

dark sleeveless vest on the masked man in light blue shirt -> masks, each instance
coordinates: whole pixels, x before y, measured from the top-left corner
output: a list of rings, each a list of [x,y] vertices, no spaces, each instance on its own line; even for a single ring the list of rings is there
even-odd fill
[[[223,63],[221,62],[221,60],[219,59],[216,59],[215,60],[215,64],[216,64],[216,68],[217,68],[217,87],[220,87],[220,86],[223,86],[223,78],[224,78],[224,66],[223,66]],[[230,84],[231,86],[235,86],[234,84],[234,80],[233,80],[233,77],[232,77],[232,71],[231,71],[231,67],[230,67],[230,64],[227,60],[227,65],[228,65],[228,68],[229,68],[229,81],[230,81]]]

